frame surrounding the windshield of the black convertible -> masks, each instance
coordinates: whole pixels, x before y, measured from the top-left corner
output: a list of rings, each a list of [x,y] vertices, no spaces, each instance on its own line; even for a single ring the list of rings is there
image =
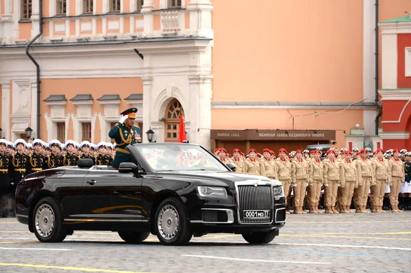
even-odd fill
[[[221,169],[218,170],[203,170],[203,171],[210,171],[210,172],[232,172],[232,170],[225,164],[223,164],[223,162],[221,162],[221,160],[216,157],[216,155],[214,155],[213,153],[211,153],[210,151],[208,151],[208,149],[204,148],[201,145],[198,144],[188,144],[188,143],[179,143],[179,142],[162,142],[162,143],[144,143],[144,144],[132,144],[132,145],[127,145],[127,150],[129,150],[132,155],[134,155],[134,157],[136,157],[136,160],[138,161],[138,164],[141,165],[141,167],[143,169],[145,169],[146,172],[158,172],[158,173],[164,173],[166,171],[169,172],[189,172],[189,171],[195,171],[195,170],[200,170],[202,169],[201,167],[196,167],[195,170],[190,170],[189,168],[186,170],[158,170],[158,169],[154,169],[151,167],[151,164],[149,164],[149,162],[147,161],[147,159],[145,158],[145,156],[142,154],[142,148],[155,148],[155,146],[171,146],[171,145],[179,145],[179,146],[192,146],[193,148],[196,147],[197,149],[201,150],[201,152],[206,153],[208,155],[210,155],[210,157],[215,159],[215,162],[213,161],[212,163],[216,164],[217,166],[221,166]],[[159,147],[160,148],[160,147]],[[189,148],[189,147],[187,147]]]

